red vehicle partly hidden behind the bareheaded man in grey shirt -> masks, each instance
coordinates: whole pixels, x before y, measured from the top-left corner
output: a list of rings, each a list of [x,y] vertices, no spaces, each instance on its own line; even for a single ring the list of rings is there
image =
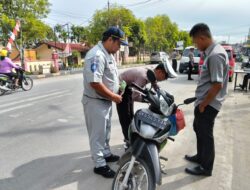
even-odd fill
[[[229,82],[233,81],[233,75],[234,75],[234,68],[235,68],[235,57],[236,54],[234,53],[233,47],[230,45],[222,45],[224,47],[224,49],[227,52],[228,55],[228,59],[229,59],[229,71],[228,71],[228,75],[229,75]],[[199,73],[201,73],[201,67],[204,63],[204,56],[203,53],[200,56],[200,61],[199,61]]]

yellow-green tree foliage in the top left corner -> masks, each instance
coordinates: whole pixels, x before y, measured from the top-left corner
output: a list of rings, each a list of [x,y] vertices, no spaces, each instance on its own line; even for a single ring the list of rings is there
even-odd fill
[[[21,21],[22,40],[25,45],[35,43],[51,36],[52,29],[41,19],[49,13],[48,0],[1,0],[1,38],[4,44],[8,41],[8,34],[13,30],[17,19]]]

